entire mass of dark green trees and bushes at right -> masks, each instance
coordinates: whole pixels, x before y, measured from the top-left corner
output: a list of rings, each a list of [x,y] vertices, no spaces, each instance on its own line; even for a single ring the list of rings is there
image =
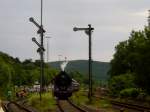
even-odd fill
[[[138,98],[150,95],[150,28],[132,31],[116,48],[109,71],[111,95]]]

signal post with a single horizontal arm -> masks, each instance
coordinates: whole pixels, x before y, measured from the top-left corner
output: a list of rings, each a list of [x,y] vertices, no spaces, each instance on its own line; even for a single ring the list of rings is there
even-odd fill
[[[92,31],[94,28],[91,27],[91,25],[88,25],[88,28],[73,28],[74,31],[85,31],[85,33],[89,36],[89,61],[88,61],[88,73],[89,73],[89,93],[88,93],[88,98],[89,101],[92,101]]]

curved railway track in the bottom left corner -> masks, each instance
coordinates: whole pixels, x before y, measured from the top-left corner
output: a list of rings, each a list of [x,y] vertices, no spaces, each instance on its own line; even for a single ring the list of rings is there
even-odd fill
[[[28,108],[25,108],[24,106],[16,103],[16,102],[7,102],[5,104],[2,104],[2,107],[5,112],[34,112],[32,110],[29,110]]]

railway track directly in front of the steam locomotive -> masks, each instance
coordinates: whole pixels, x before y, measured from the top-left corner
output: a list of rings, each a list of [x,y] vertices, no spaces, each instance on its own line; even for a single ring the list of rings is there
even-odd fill
[[[81,109],[70,100],[57,100],[57,106],[59,108],[59,112],[88,112]]]

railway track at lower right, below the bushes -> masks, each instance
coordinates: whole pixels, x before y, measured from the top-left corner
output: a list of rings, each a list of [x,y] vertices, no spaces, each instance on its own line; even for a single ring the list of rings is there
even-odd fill
[[[150,112],[150,107],[144,107],[141,105],[129,104],[113,100],[110,100],[110,102],[112,105],[120,107],[120,110],[122,110],[121,112],[124,112],[125,110],[132,110],[135,112]]]

